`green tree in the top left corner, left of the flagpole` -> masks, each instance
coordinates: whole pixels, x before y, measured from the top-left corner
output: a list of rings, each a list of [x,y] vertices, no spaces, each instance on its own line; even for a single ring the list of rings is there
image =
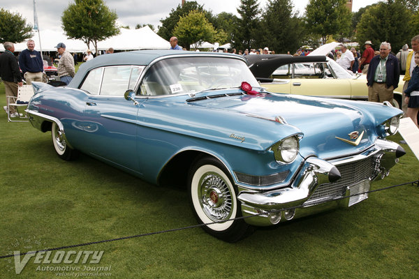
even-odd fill
[[[0,9],[0,43],[20,43],[32,36],[32,27],[19,13]]]

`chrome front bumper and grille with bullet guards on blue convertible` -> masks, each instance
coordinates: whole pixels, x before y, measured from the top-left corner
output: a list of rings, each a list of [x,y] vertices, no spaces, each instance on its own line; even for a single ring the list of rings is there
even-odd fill
[[[371,181],[387,176],[404,153],[395,142],[377,140],[354,156],[328,161],[309,157],[291,186],[266,192],[242,189],[237,196],[242,202],[242,215],[253,216],[245,219],[249,224],[266,226],[279,223],[282,217],[291,220],[316,213],[318,207],[351,206],[366,199],[367,195],[361,194],[369,190]],[[329,206],[325,206],[327,203]]]

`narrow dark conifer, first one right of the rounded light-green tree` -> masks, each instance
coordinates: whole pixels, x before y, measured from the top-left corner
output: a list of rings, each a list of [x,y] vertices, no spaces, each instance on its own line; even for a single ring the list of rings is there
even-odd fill
[[[235,24],[235,33],[232,38],[233,47],[237,50],[250,49],[255,47],[256,38],[260,27],[260,9],[257,0],[240,0],[237,13],[240,17]]]

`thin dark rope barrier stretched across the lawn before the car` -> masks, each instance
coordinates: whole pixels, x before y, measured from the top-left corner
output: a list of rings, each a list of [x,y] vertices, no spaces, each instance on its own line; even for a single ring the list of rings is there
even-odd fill
[[[323,202],[318,202],[316,204],[310,204],[310,205],[311,206],[314,206],[314,205],[318,205],[318,204],[324,204],[325,202],[336,201],[336,200],[340,200],[340,199],[348,199],[350,197],[355,197],[355,196],[358,196],[358,195],[365,195],[365,194],[369,194],[369,193],[375,193],[375,192],[379,192],[379,191],[383,191],[383,190],[388,190],[388,189],[391,189],[391,188],[396,188],[396,187],[405,186],[405,185],[409,185],[409,184],[411,184],[412,186],[418,186],[419,187],[419,179],[416,180],[416,181],[411,181],[411,182],[406,182],[406,183],[402,183],[402,184],[398,184],[398,185],[388,186],[388,187],[380,188],[380,189],[376,189],[376,190],[369,190],[369,191],[364,192],[364,193],[358,193],[358,194],[355,194],[355,195],[348,195],[348,196],[344,196],[344,197],[334,198],[334,199],[330,199],[330,200],[326,200],[326,201],[323,201]],[[284,209],[272,210],[270,212],[286,211],[286,210],[298,209],[298,208],[301,208],[301,207],[304,207],[304,206],[300,205],[300,206],[287,207],[287,208],[284,208]],[[265,213],[259,213],[259,214],[255,214],[255,215],[252,215],[252,216],[241,216],[241,217],[230,219],[228,221],[240,220],[240,219],[246,219],[246,218],[252,218],[254,216],[260,216],[260,215],[263,215],[263,214],[265,214]],[[36,254],[38,252],[47,252],[47,251],[63,250],[63,249],[67,249],[67,248],[90,246],[90,245],[94,245],[94,244],[107,243],[107,242],[119,241],[119,240],[124,240],[124,239],[135,239],[135,238],[138,238],[138,237],[151,236],[151,235],[154,235],[154,234],[165,234],[167,232],[177,232],[177,231],[181,231],[181,230],[184,230],[184,229],[194,229],[196,227],[203,227],[203,226],[207,226],[207,225],[213,225],[213,224],[217,224],[217,223],[224,223],[224,222],[228,222],[228,221],[222,221],[222,222],[220,221],[220,222],[197,224],[197,225],[191,225],[191,226],[187,226],[187,227],[179,227],[179,228],[176,228],[176,229],[166,229],[166,230],[159,231],[159,232],[149,232],[147,234],[136,234],[136,235],[133,235],[133,236],[123,236],[123,237],[119,237],[117,239],[106,239],[106,240],[101,240],[101,241],[91,241],[91,242],[87,242],[87,243],[80,243],[80,244],[75,244],[75,245],[61,246],[61,247],[57,247],[57,248],[49,248],[49,249],[29,251],[29,252],[20,252],[18,254],[0,256],[0,259],[5,259],[5,258],[8,258],[8,257],[15,257],[15,256],[31,255],[31,254]]]

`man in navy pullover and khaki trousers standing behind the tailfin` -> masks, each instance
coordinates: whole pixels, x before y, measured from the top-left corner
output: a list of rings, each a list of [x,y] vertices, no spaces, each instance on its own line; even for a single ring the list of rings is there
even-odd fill
[[[41,53],[34,50],[34,40],[28,40],[27,50],[23,50],[19,56],[19,66],[27,84],[43,81],[43,59]]]

